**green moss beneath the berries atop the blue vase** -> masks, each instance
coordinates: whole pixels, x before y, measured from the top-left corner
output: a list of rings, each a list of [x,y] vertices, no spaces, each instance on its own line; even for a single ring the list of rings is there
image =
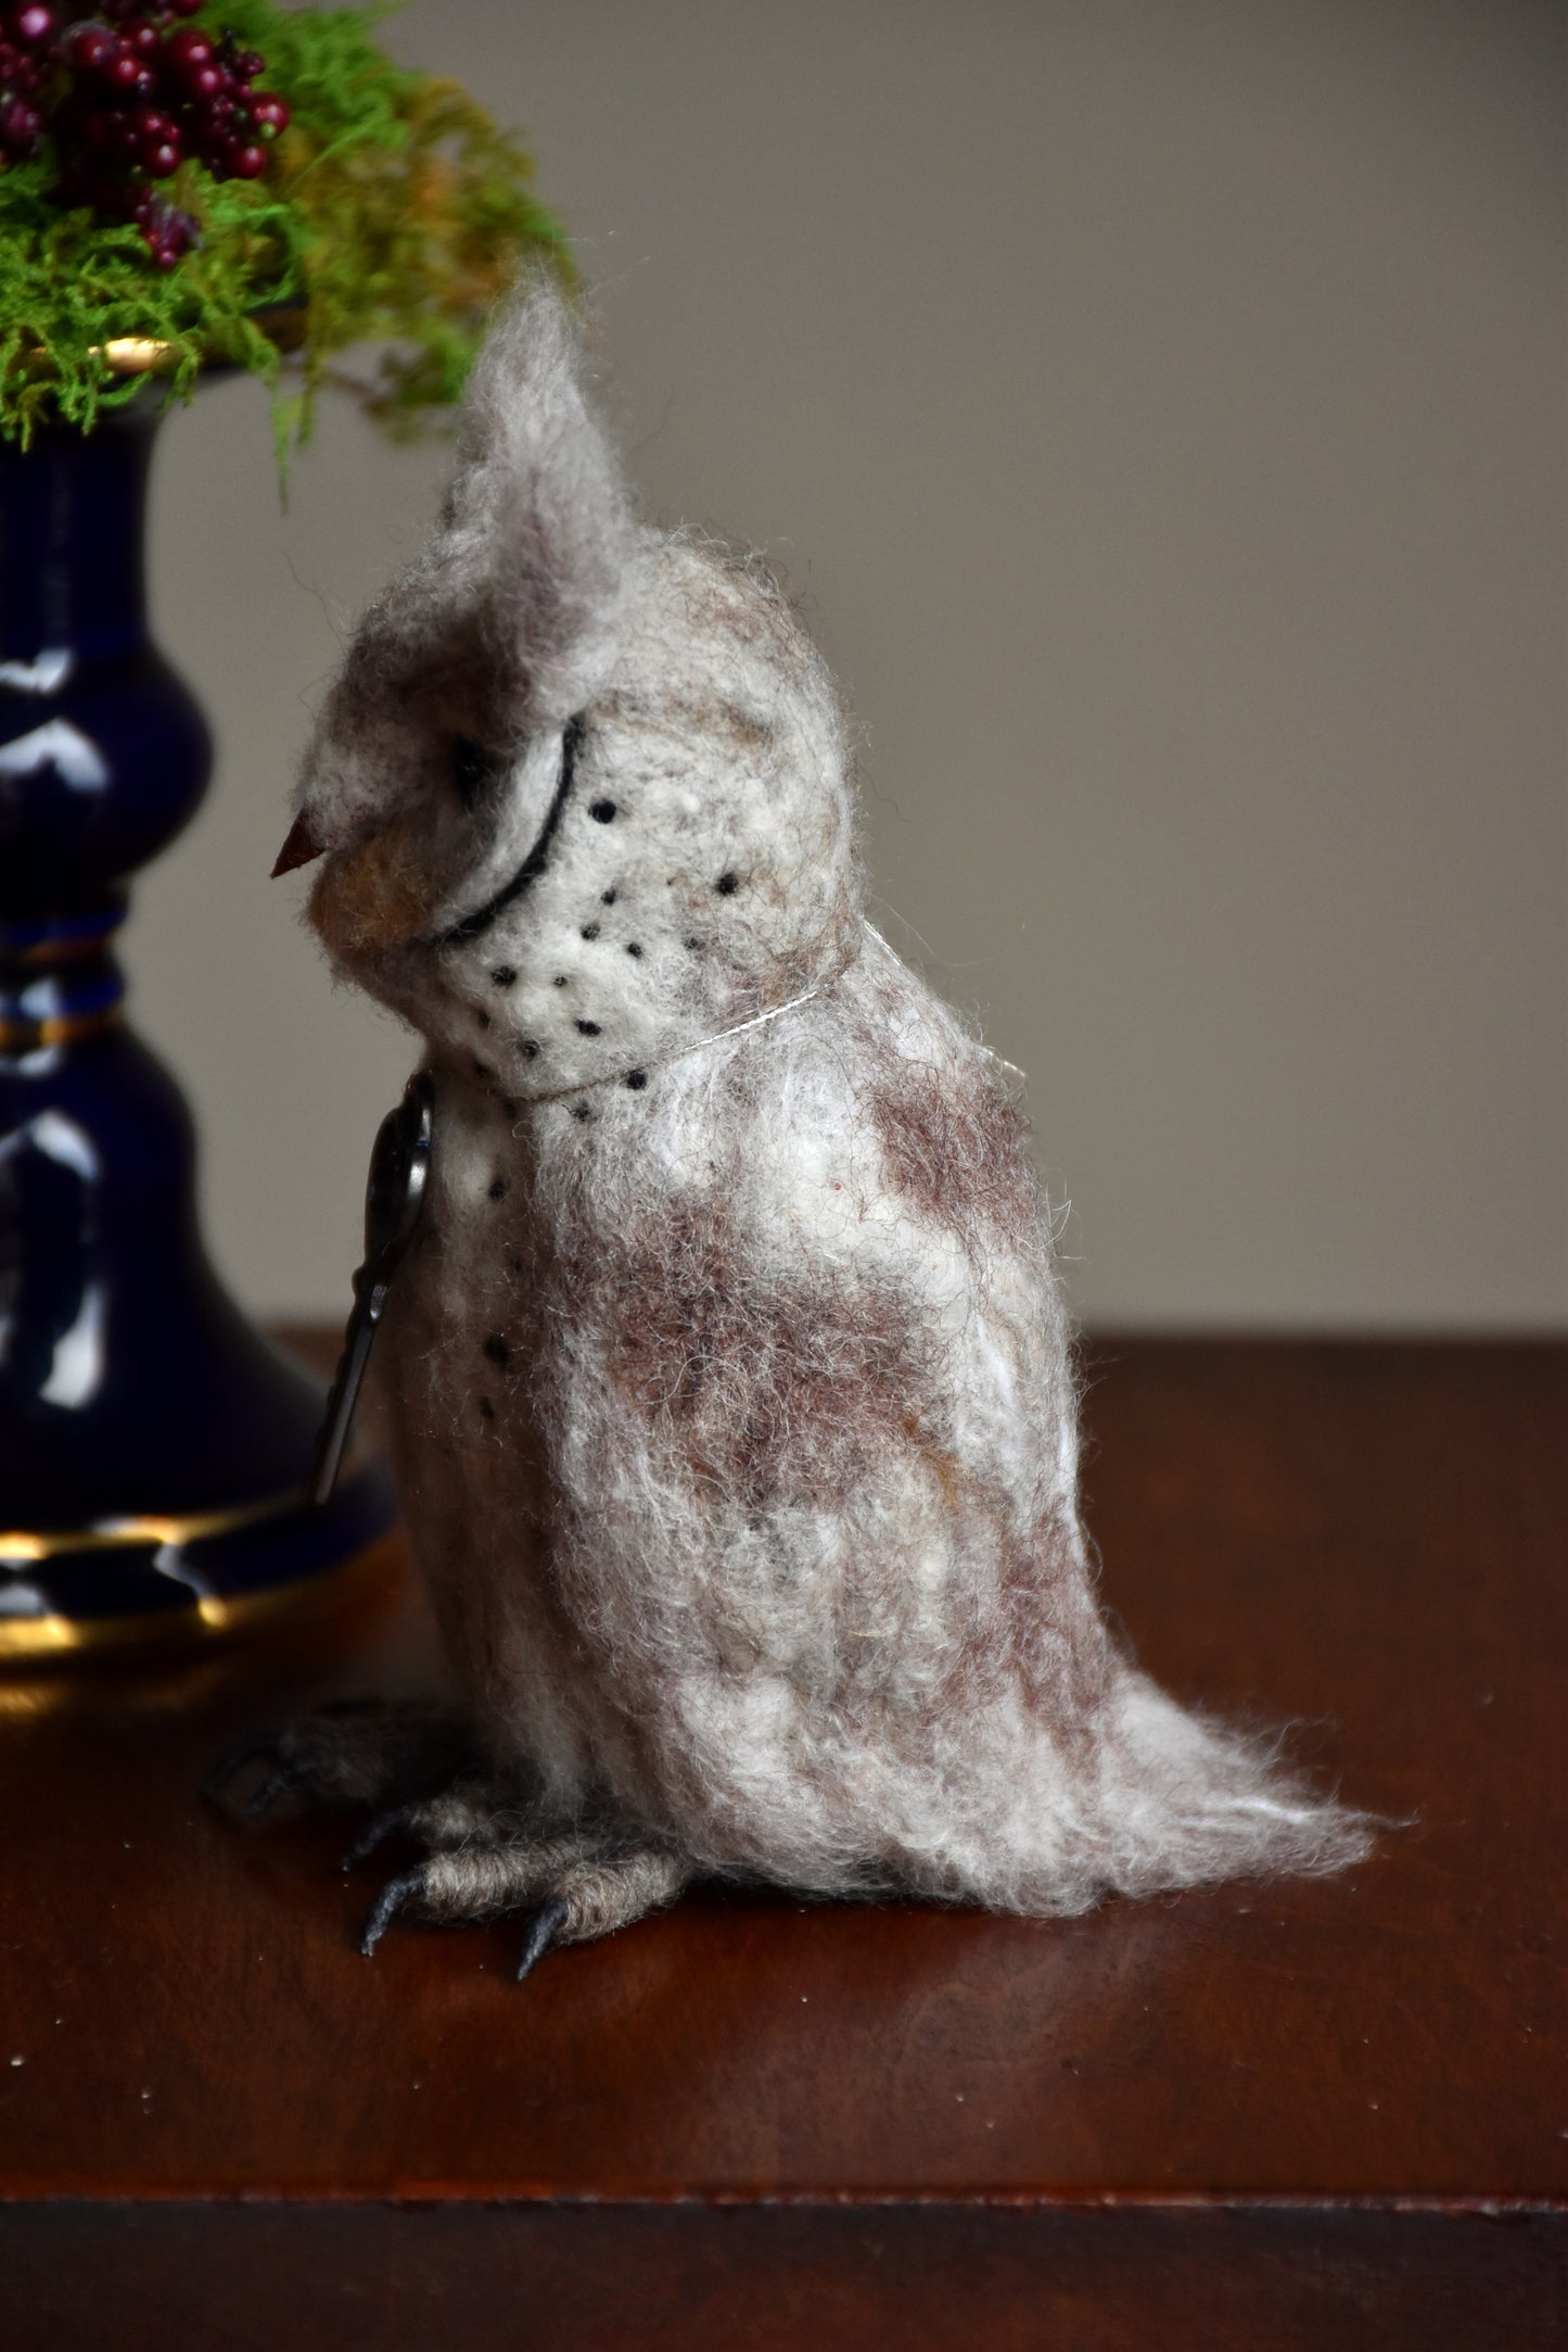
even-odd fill
[[[571,282],[522,143],[456,82],[395,66],[374,40],[381,14],[214,0],[197,19],[261,49],[263,87],[294,120],[259,181],[188,162],[165,183],[202,238],[167,273],[136,228],[54,202],[49,148],[0,172],[0,433],[87,430],[134,397],[139,379],[103,360],[122,336],[169,346],[172,397],[216,360],[263,376],[280,456],[329,381],[411,433],[458,397],[487,308],[522,263]],[[383,346],[371,381],[329,367],[353,343]]]

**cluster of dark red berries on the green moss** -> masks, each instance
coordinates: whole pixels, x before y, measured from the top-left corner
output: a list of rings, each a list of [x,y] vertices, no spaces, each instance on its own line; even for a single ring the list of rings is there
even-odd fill
[[[0,158],[59,151],[61,205],[134,221],[158,268],[195,245],[195,221],[155,193],[181,162],[214,179],[259,179],[287,103],[256,89],[266,59],[233,33],[179,19],[205,0],[101,0],[61,33],[45,0],[0,12]]]

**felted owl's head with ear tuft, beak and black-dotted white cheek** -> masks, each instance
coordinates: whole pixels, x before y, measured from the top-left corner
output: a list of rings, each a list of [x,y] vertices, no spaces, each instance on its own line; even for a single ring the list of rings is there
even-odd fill
[[[437,532],[327,694],[277,870],[317,856],[339,969],[510,1094],[842,955],[832,680],[759,564],[637,522],[548,285],[496,318]]]

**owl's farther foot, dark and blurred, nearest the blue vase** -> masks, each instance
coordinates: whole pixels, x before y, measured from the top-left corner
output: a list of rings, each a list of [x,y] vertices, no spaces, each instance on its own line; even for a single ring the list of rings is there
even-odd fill
[[[473,1762],[456,1715],[416,1700],[346,1698],[277,1731],[256,1731],[207,1773],[202,1795],[247,1816],[280,1799],[327,1809],[407,1804]],[[249,1792],[230,1792],[256,1766]]]

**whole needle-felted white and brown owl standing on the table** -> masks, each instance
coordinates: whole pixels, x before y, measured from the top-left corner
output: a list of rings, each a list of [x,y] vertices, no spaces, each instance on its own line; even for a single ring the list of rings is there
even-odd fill
[[[1359,1818],[1110,1637],[1023,1122],[860,915],[832,680],[766,574],[637,522],[545,289],[331,687],[284,861],[425,1040],[381,1371],[461,1722],[275,1773],[529,1912],[524,1969],[705,1875],[1081,1912],[1333,1870]]]

